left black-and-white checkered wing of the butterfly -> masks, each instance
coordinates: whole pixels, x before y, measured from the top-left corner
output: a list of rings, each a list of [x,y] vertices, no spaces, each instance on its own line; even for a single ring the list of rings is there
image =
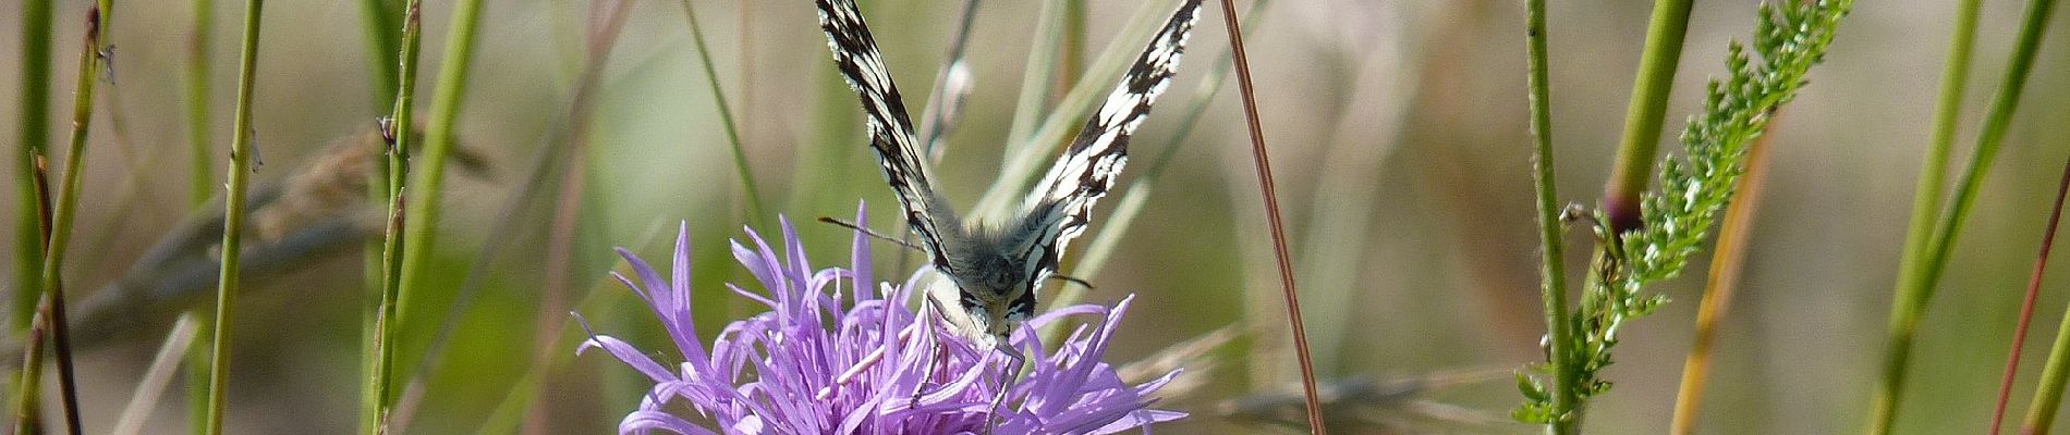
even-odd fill
[[[905,221],[925,243],[936,268],[946,268],[942,252],[942,231],[956,231],[956,212],[948,208],[934,190],[925,159],[919,155],[919,140],[913,136],[913,120],[907,115],[898,85],[884,68],[876,37],[863,25],[855,0],[816,0],[820,6],[820,29],[826,31],[826,47],[834,52],[834,64],[849,78],[863,101],[869,120],[869,148],[878,150],[884,165],[884,179],[898,194],[905,206]]]

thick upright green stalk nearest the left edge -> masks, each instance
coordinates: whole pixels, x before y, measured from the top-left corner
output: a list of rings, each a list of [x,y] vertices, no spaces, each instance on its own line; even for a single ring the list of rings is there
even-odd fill
[[[35,301],[43,295],[43,243],[41,216],[37,212],[37,188],[27,173],[35,173],[35,159],[50,157],[50,0],[21,2],[21,101],[17,109],[17,173],[23,173],[14,192],[14,309],[10,332],[29,328]]]

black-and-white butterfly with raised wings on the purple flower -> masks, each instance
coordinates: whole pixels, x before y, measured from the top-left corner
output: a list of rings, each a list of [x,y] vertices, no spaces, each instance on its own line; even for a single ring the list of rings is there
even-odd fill
[[[855,0],[816,0],[816,4],[834,64],[861,99],[869,124],[869,148],[876,150],[884,179],[898,196],[903,221],[919,237],[934,270],[954,287],[954,295],[929,291],[927,303],[956,307],[936,313],[973,342],[1021,361],[1018,350],[1002,344],[1014,328],[1035,315],[1037,287],[1056,274],[1064,245],[1085,233],[1093,202],[1114,188],[1122,165],[1128,163],[1128,136],[1149,118],[1157,95],[1172,85],[1201,0],[1186,0],[1165,21],[1018,212],[985,221],[965,221],[936,192],[898,85],[884,68],[884,56]],[[1021,365],[1010,363],[1010,367]]]

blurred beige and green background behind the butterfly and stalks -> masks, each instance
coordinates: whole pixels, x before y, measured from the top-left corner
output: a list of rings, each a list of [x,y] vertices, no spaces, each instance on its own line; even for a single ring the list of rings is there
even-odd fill
[[[714,332],[712,326],[751,309],[716,291],[745,276],[724,254],[727,239],[741,237],[743,225],[791,216],[818,264],[845,264],[849,233],[809,223],[814,216],[845,216],[857,200],[867,200],[878,227],[892,229],[884,225],[894,223],[892,196],[863,146],[855,97],[828,62],[809,2],[691,0],[764,196],[760,216],[745,206],[681,4],[627,2],[623,33],[604,43],[609,56],[594,54],[602,45],[590,35],[619,12],[619,2],[486,4],[460,140],[486,159],[489,171],[451,177],[437,223],[443,239],[435,262],[445,272],[426,303],[406,313],[439,322],[412,324],[404,361],[420,359],[439,330],[451,330],[433,363],[404,365],[426,373],[426,394],[408,431],[476,431],[497,406],[518,406],[524,427],[540,433],[611,431],[640,400],[642,379],[602,355],[571,357],[571,340],[542,344],[540,334],[578,334],[567,311],[580,311],[600,332],[667,348],[646,309],[607,278],[619,266],[613,245],[660,260],[667,229],[687,221],[698,285],[714,289],[702,293],[708,297],[700,299],[700,324]],[[52,138],[62,138],[68,126],[70,68],[87,6],[58,2],[58,31],[29,35],[56,41],[52,124],[29,126],[48,128]],[[1975,120],[1998,85],[2022,6],[1985,6],[1958,161],[1966,159]],[[863,4],[915,111],[946,54],[958,8],[960,2]],[[1091,62],[1136,8],[1136,2],[1085,2],[1083,29],[1072,33],[1085,43],[1083,60]],[[1668,132],[1699,107],[1704,80],[1722,72],[1726,41],[1749,35],[1753,8],[1751,0],[1697,4]],[[1952,8],[1921,0],[1857,4],[1826,64],[1811,72],[1811,85],[1772,124],[1766,198],[1751,227],[1743,289],[1724,317],[1704,433],[1861,429]],[[236,2],[203,10],[215,16],[203,43],[217,179],[230,138],[240,10]],[[998,173],[1012,101],[1023,70],[1031,68],[1037,10],[1039,2],[985,2],[977,12],[969,58],[975,87],[936,165],[954,204],[973,204]],[[1387,425],[1337,431],[1534,431],[1501,423],[1521,400],[1507,373],[1540,359],[1542,334],[1521,10],[1521,2],[1490,0],[1277,0],[1246,16],[1263,130],[1319,373],[1325,381],[1492,373],[1484,381],[1372,400],[1370,421]],[[193,60],[195,12],[178,0],[118,2],[116,80],[101,89],[66,270],[75,299],[137,268],[193,210],[182,76]],[[437,47],[445,43],[449,12],[449,2],[424,4],[420,95],[439,87],[431,70],[441,64]],[[1563,200],[1592,204],[1600,196],[1646,16],[1644,2],[1550,2]],[[1927,309],[1900,433],[1975,431],[1989,419],[2049,188],[2058,161],[2070,155],[2064,148],[2070,74],[2062,74],[2070,70],[2070,43],[2060,43],[2070,29],[2062,16],[2051,27],[2008,146],[1964,227],[1944,291]],[[19,58],[21,23],[0,21],[0,35],[6,35],[0,58]],[[1124,188],[1153,165],[1145,163],[1151,155],[1172,146],[1182,107],[1201,99],[1199,82],[1221,68],[1215,62],[1228,45],[1217,6],[1207,8],[1192,41],[1174,91],[1136,134],[1138,159],[1124,173]],[[257,179],[290,177],[327,144],[350,140],[389,111],[389,93],[375,89],[368,54],[356,2],[267,4],[255,97],[265,165]],[[602,64],[594,64],[594,89],[582,97],[592,107],[578,109],[584,70],[596,60]],[[1076,70],[1083,62],[1035,68]],[[12,87],[19,74],[0,68],[0,80],[8,82],[0,101],[19,101]],[[1236,101],[1230,80],[1174,153],[1105,268],[1085,276],[1099,285],[1087,301],[1138,295],[1122,342],[1110,353],[1114,361],[1143,359],[1221,328],[1252,332],[1213,353],[1213,369],[1190,373],[1207,381],[1203,388],[1159,402],[1194,412],[1170,427],[1176,433],[1292,433],[1254,416],[1225,416],[1230,400],[1296,392],[1298,379]],[[17,126],[19,109],[0,105],[0,124],[10,134],[25,128]],[[1677,150],[1673,136],[1662,142]],[[4,171],[21,177],[14,165]],[[14,194],[0,194],[0,204],[19,204]],[[1101,204],[1101,214],[1114,204]],[[557,210],[573,212],[567,221],[573,225],[555,229]],[[14,212],[10,206],[8,214]],[[1103,225],[1095,219],[1093,233],[1105,231]],[[1569,252],[1588,243],[1579,231],[1569,241],[1575,245]],[[563,256],[557,245],[565,245]],[[890,247],[878,254],[900,256]],[[1573,270],[1584,258],[1569,256]],[[1706,262],[1697,258],[1691,274],[1654,287],[1677,301],[1625,330],[1608,369],[1617,388],[1594,402],[1592,431],[1666,429]],[[234,433],[354,427],[360,322],[368,307],[360,264],[354,243],[310,252],[246,285],[234,328]],[[878,264],[880,272],[898,266]],[[470,274],[474,285],[466,285]],[[462,287],[472,289],[472,299],[447,326]],[[2045,326],[2070,301],[2062,289],[2062,278],[2047,280],[2041,328],[2029,346],[2053,338]],[[122,320],[157,326],[81,344],[87,433],[114,425],[178,307],[147,311]],[[2024,406],[2045,353],[2029,355],[2014,408]],[[544,383],[526,390],[520,379],[534,367],[546,373]],[[149,433],[186,429],[180,390],[174,386],[157,406]]]

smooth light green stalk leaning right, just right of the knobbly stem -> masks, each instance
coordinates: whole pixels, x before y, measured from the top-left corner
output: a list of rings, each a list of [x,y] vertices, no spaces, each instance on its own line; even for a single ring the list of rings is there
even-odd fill
[[[431,97],[431,118],[424,122],[424,150],[418,155],[424,163],[416,165],[422,171],[412,175],[410,202],[404,206],[418,225],[408,227],[402,239],[404,266],[402,289],[395,295],[395,330],[410,326],[410,305],[435,272],[431,270],[431,256],[435,252],[433,243],[439,239],[439,198],[445,190],[445,161],[453,155],[453,132],[460,126],[460,103],[468,91],[468,68],[474,64],[474,37],[480,16],[482,0],[453,2],[453,23],[445,35],[439,85]],[[406,124],[410,120],[397,122]]]

